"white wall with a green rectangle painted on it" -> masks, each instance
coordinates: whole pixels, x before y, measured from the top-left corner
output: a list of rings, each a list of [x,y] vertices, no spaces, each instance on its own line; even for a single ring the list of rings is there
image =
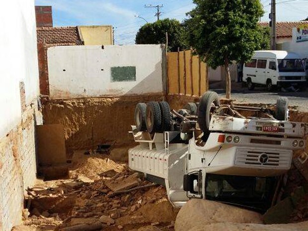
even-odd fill
[[[101,46],[48,48],[50,97],[162,92],[163,50],[160,45],[104,46],[104,49]],[[110,68],[123,66],[136,67],[136,81],[111,82]]]

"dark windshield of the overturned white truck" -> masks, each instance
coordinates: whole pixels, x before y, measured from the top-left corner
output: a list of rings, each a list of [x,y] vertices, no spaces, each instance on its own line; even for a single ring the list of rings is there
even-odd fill
[[[206,199],[267,211],[272,202],[276,178],[206,174]]]

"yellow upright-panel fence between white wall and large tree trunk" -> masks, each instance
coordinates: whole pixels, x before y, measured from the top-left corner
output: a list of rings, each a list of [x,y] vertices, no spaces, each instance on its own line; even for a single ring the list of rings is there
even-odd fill
[[[208,90],[207,65],[192,51],[168,52],[168,93],[201,96]]]

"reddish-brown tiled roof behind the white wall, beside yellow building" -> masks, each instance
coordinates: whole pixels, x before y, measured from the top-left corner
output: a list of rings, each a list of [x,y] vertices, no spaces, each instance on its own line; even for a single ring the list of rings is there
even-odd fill
[[[82,45],[77,26],[38,27],[36,28],[37,43],[54,45]]]

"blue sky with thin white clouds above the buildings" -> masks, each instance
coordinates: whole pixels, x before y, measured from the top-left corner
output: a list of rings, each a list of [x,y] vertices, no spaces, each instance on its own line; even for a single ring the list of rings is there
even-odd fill
[[[265,11],[261,21],[268,21],[270,2],[261,0]],[[276,0],[276,3],[277,21],[299,21],[308,17],[308,0]],[[54,26],[112,25],[115,44],[134,44],[136,33],[146,20],[157,19],[156,8],[145,5],[162,5],[161,19],[180,21],[194,8],[192,0],[35,0],[35,4],[52,6]]]

